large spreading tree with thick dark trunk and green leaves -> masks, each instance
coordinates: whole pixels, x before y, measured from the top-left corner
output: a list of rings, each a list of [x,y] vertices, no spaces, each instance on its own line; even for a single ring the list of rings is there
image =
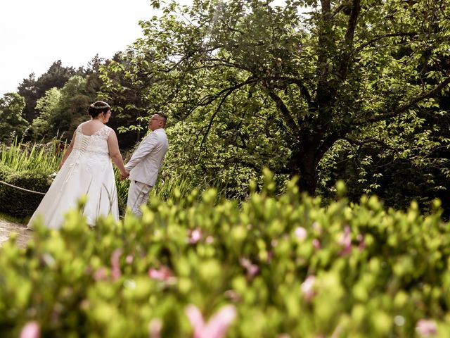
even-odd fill
[[[425,130],[420,111],[433,113],[433,98],[449,87],[449,5],[172,3],[160,18],[141,23],[145,36],[132,46],[132,57],[151,54],[153,62],[134,62],[126,76],[157,78],[146,100],[174,118],[210,107],[204,116],[210,125],[227,101],[257,94],[257,104],[271,106],[283,121],[281,137],[290,148],[284,171],[298,175],[300,188],[314,194],[318,165],[338,142],[378,144],[381,152],[416,159],[424,158],[409,151],[417,139],[427,147],[445,146]],[[234,104],[246,109],[246,101]],[[271,114],[262,118],[270,123]],[[406,135],[412,137],[404,144]],[[399,145],[401,151],[394,151]]]

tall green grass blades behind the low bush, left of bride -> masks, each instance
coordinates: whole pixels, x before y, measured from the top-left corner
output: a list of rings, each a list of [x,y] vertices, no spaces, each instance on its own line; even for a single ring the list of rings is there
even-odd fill
[[[15,171],[30,169],[51,173],[58,169],[65,151],[65,144],[63,149],[60,144],[58,139],[46,144],[23,143],[15,139],[11,146],[1,144],[0,161]]]

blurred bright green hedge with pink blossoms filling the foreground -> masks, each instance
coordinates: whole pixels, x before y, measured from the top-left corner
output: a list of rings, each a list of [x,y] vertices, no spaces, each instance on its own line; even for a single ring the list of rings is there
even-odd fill
[[[220,337],[193,325],[198,309],[205,322],[221,314],[210,326],[231,320],[227,337],[450,337],[439,201],[425,216],[375,196],[323,208],[294,182],[267,191],[240,206],[214,190],[153,199],[142,220],[94,230],[72,211],[60,231],[37,226],[26,249],[12,238],[0,248],[0,332]]]

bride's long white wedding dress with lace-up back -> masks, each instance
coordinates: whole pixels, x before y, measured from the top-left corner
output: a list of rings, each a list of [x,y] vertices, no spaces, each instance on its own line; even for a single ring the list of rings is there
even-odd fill
[[[86,223],[94,226],[98,216],[106,215],[119,219],[113,165],[108,154],[108,135],[112,129],[104,125],[87,136],[82,132],[82,125],[75,132],[72,152],[30,218],[29,229],[39,218],[46,227],[60,228],[65,213],[76,208],[84,194],[86,204],[82,212]]]

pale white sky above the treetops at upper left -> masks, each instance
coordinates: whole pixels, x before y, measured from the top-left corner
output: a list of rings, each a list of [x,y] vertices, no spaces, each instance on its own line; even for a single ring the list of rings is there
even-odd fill
[[[0,97],[53,61],[78,68],[113,57],[155,14],[150,0],[0,0]]]

